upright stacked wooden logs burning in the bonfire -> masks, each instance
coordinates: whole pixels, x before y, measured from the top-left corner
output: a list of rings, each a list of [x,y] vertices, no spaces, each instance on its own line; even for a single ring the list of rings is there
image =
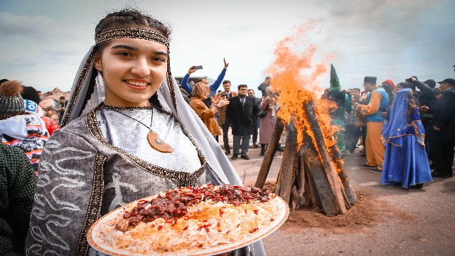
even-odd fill
[[[356,198],[339,150],[335,144],[331,148],[332,154],[329,154],[316,119],[314,102],[304,103],[303,107],[316,144],[304,131],[304,141],[298,145],[295,120],[291,118],[282,166],[273,192],[294,209],[314,206],[322,208],[328,216],[344,214]],[[264,186],[283,130],[284,122],[278,119],[257,177],[257,188]]]

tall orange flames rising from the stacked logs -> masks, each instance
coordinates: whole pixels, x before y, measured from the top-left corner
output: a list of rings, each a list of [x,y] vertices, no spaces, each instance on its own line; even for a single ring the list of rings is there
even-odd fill
[[[314,63],[314,54],[319,49],[314,43],[306,47],[301,54],[296,54],[294,50],[291,50],[292,46],[304,43],[304,36],[313,31],[318,23],[319,21],[308,21],[296,26],[294,34],[279,41],[274,50],[276,57],[274,63],[267,69],[266,73],[272,76],[273,90],[279,92],[278,104],[282,107],[277,113],[278,116],[287,123],[290,122],[291,116],[296,119],[298,145],[301,146],[303,142],[304,131],[311,136],[316,145],[314,134],[311,132],[302,105],[303,102],[314,100],[316,118],[321,127],[327,149],[332,154],[331,146],[336,144],[336,137],[333,135],[339,131],[340,127],[331,124],[329,113],[336,110],[337,106],[335,102],[330,100],[317,100],[317,95],[323,92],[319,80],[327,73],[326,61],[333,56],[325,54],[320,63]],[[334,166],[337,167],[335,163]]]

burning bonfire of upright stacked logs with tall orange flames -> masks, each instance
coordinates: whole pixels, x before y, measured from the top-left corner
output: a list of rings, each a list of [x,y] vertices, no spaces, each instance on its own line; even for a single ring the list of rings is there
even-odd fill
[[[316,21],[309,21],[297,26],[296,33],[279,41],[274,63],[266,71],[272,76],[272,90],[279,92],[282,107],[255,186],[264,186],[284,124],[289,124],[274,193],[294,208],[320,206],[326,215],[337,215],[346,213],[356,198],[334,136],[341,127],[331,123],[330,113],[337,106],[319,97],[323,92],[319,80],[326,75],[327,61],[333,56],[324,55],[314,63],[319,49],[315,44],[300,54],[292,50],[316,25]]]

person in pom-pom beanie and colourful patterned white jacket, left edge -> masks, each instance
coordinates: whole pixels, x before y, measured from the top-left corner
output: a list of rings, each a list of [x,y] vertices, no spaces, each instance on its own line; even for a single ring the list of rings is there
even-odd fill
[[[18,81],[0,85],[0,142],[21,148],[38,175],[39,158],[49,132],[43,119],[26,113],[22,91]]]

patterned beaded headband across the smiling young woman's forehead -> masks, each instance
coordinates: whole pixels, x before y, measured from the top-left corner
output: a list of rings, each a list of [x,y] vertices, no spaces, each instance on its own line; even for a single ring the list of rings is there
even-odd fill
[[[169,48],[169,41],[163,35],[141,28],[115,28],[105,31],[95,36],[95,43],[99,44],[117,38],[139,38],[161,43],[166,48]]]

